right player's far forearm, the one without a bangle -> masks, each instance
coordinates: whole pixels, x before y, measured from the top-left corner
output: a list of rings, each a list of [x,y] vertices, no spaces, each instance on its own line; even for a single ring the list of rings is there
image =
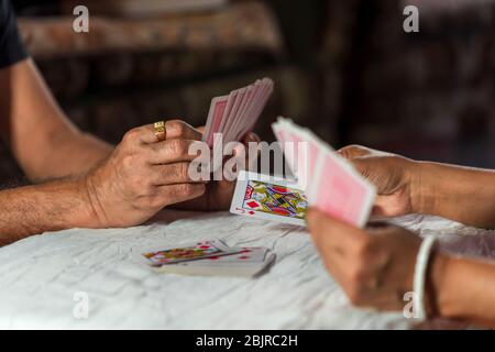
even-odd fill
[[[495,228],[495,172],[417,164],[415,211],[480,228]]]

